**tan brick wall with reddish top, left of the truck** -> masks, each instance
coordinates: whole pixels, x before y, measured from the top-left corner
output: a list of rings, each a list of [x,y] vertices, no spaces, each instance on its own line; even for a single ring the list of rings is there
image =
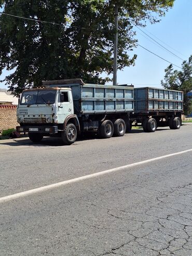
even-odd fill
[[[0,131],[17,125],[17,105],[0,105]]]

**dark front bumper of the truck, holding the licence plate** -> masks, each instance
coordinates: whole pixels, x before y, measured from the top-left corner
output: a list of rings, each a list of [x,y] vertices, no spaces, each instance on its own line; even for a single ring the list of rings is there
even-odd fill
[[[47,133],[47,134],[57,134],[58,127],[57,126],[33,126],[33,125],[21,125],[16,127],[18,132],[34,132],[34,133]]]

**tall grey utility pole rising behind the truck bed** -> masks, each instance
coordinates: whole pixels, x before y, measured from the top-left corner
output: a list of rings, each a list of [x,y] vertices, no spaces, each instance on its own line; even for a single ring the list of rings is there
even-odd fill
[[[117,47],[118,47],[118,5],[115,4],[115,41],[114,41],[114,65],[113,85],[117,85]]]

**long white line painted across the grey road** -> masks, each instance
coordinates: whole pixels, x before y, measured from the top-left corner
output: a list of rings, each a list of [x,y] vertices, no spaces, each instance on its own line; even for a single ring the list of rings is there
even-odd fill
[[[140,161],[140,162],[137,162],[137,163],[133,163],[133,164],[130,164],[130,165],[124,165],[124,166],[120,166],[120,167],[117,167],[117,168],[88,174],[88,175],[81,176],[81,177],[78,177],[78,178],[75,178],[75,179],[61,181],[61,182],[50,184],[50,185],[47,185],[47,186],[37,187],[37,188],[34,188],[32,190],[20,192],[20,193],[17,193],[17,194],[0,197],[0,203],[3,203],[5,201],[9,201],[9,200],[12,200],[12,199],[16,199],[16,198],[19,198],[19,197],[28,196],[28,195],[32,195],[32,194],[35,194],[35,193],[43,192],[43,191],[46,191],[46,190],[51,190],[51,189],[59,187],[59,186],[64,186],[64,185],[67,185],[67,184],[71,184],[71,183],[87,180],[87,179],[90,179],[90,178],[102,176],[102,175],[107,174],[107,173],[121,171],[121,170],[130,168],[130,167],[147,164],[147,163],[157,161],[157,160],[160,160],[160,159],[163,159],[163,158],[168,158],[168,157],[171,157],[171,156],[181,155],[181,154],[191,152],[191,151],[192,151],[192,149],[177,152],[177,153],[173,153],[173,154],[169,154],[169,155],[159,156],[159,157],[155,157],[155,158],[152,158],[152,159],[148,159],[148,160]]]

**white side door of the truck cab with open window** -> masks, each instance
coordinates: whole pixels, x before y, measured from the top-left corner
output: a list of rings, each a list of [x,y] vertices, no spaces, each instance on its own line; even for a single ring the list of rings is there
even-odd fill
[[[58,97],[58,123],[64,123],[68,115],[74,113],[71,91],[60,91]]]

